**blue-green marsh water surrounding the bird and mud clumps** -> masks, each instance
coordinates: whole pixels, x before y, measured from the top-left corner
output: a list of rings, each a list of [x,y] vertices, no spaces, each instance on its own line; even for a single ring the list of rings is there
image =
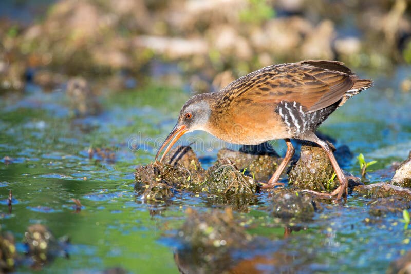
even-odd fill
[[[347,145],[353,153],[346,171],[360,175],[359,153],[367,161],[378,161],[371,168],[374,172],[367,174],[369,183],[389,180],[394,172],[390,165],[406,159],[411,148],[411,93],[399,88],[399,79],[410,73],[409,67],[398,67],[389,75],[360,72],[373,77],[375,87],[354,96],[320,127],[337,140],[336,145]],[[25,94],[0,97],[2,231],[13,232],[19,243],[29,225],[40,223],[55,237],[68,236],[68,258],[56,258],[44,272],[94,273],[115,266],[139,273],[178,272],[173,252],[179,246],[175,236],[185,210],[206,212],[218,205],[189,192],[175,193],[167,204],[145,204],[134,190],[133,172],[154,160],[161,138],[174,126],[190,92],[160,84],[103,90],[101,114],[77,118],[63,90],[50,93],[32,86]],[[191,133],[180,143],[190,140],[197,140],[193,147],[204,167],[216,159],[219,148],[230,146],[202,132]],[[273,144],[284,155],[284,142]],[[110,156],[90,155],[98,148],[107,149]],[[74,213],[72,198],[83,205],[79,213]],[[261,263],[260,272],[381,273],[409,249],[411,234],[404,231],[400,215],[369,224],[364,220],[370,200],[358,194],[315,213],[313,220],[291,223],[304,229],[288,238],[283,236],[284,226],[290,223],[270,216],[267,199],[261,192],[247,210],[234,211],[247,220],[242,225],[250,234],[265,239],[264,245],[237,252],[236,258],[275,258],[278,251],[292,258]],[[22,253],[25,247],[17,244],[17,249]],[[32,270],[22,264],[17,271]]]

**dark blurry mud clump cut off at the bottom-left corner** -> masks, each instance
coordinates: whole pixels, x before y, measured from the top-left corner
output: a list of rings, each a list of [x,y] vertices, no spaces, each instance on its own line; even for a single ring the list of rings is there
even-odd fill
[[[11,233],[0,234],[0,272],[10,272],[16,264],[16,246]]]

